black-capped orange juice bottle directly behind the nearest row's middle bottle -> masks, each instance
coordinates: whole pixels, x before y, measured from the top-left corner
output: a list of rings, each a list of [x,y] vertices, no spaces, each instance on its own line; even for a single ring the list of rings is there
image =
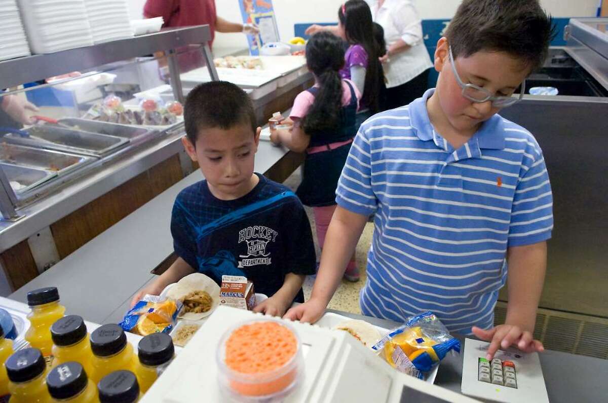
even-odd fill
[[[93,372],[93,352],[83,318],[78,315],[61,318],[50,327],[50,335],[55,343],[52,350],[53,366],[76,361],[81,363],[87,374]]]

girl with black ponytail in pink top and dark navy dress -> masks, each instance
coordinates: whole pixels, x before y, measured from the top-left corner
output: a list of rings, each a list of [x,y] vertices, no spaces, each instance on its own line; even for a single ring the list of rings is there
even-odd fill
[[[336,209],[336,187],[358,127],[355,115],[361,93],[353,82],[340,77],[344,66],[344,47],[340,38],[329,32],[313,35],[306,44],[306,65],[313,72],[313,87],[298,94],[289,119],[289,130],[271,130],[271,141],[295,152],[305,152],[302,183],[296,194],[311,206],[319,247]],[[359,280],[354,255],[345,278]]]

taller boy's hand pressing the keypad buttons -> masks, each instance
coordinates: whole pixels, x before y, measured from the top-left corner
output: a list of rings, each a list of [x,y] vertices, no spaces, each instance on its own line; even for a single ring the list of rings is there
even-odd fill
[[[531,332],[524,331],[513,324],[500,324],[489,330],[483,330],[473,326],[471,329],[475,336],[490,342],[486,359],[491,360],[499,349],[506,349],[516,345],[523,352],[542,352],[545,347],[539,340],[534,340]]]

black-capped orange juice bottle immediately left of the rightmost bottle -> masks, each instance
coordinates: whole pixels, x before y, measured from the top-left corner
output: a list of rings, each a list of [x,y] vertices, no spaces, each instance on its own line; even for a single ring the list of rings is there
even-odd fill
[[[104,324],[91,333],[93,359],[91,380],[97,384],[104,376],[118,370],[133,371],[137,357],[126,341],[125,331],[117,324]]]

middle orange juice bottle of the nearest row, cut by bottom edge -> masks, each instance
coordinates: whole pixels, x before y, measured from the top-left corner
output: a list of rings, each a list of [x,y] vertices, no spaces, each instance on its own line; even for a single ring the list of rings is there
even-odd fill
[[[68,361],[55,366],[46,376],[52,402],[97,403],[97,388],[80,363]]]

